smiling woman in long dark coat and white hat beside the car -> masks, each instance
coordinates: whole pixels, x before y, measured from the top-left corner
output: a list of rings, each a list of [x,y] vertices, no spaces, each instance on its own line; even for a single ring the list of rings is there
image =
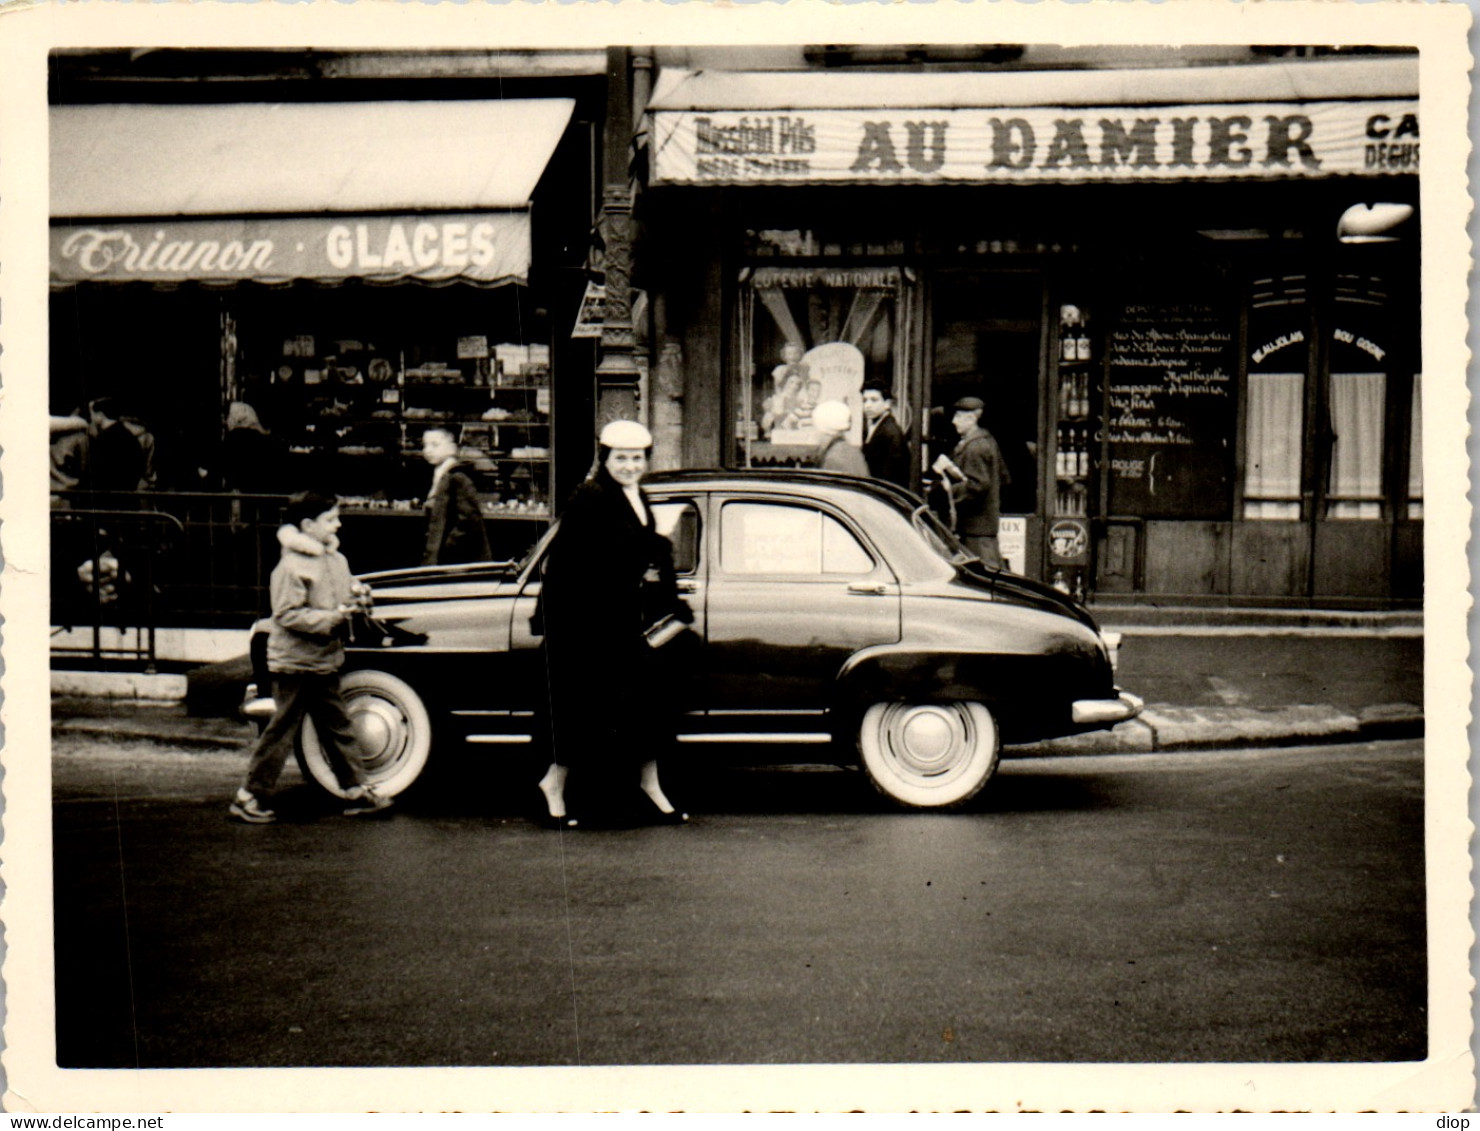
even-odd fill
[[[565,808],[571,767],[577,777],[636,771],[656,822],[688,820],[657,777],[673,742],[676,696],[665,650],[644,634],[669,616],[691,622],[693,613],[678,597],[673,548],[638,486],[651,444],[632,420],[601,431],[596,468],[565,506],[545,560],[539,619],[554,762],[540,791],[556,828],[576,828]]]

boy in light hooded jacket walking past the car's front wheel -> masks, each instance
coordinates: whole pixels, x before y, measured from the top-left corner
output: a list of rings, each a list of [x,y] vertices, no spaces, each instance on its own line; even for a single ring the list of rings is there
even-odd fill
[[[369,780],[339,693],[349,619],[369,607],[370,591],[354,579],[339,552],[339,502],[333,496],[300,491],[287,500],[283,518],[283,557],[272,570],[268,632],[275,709],[252,748],[247,779],[231,799],[231,816],[249,825],[277,820],[262,802],[275,789],[305,716],[339,755],[332,761],[349,801],[345,813],[374,813],[391,798],[377,793]]]

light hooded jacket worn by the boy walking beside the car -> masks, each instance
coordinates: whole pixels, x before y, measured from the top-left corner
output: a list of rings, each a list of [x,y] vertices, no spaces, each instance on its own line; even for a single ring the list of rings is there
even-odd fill
[[[295,526],[278,528],[283,557],[272,570],[272,631],[268,634],[269,672],[337,672],[345,662],[349,617],[340,605],[354,603],[354,576],[339,552]]]

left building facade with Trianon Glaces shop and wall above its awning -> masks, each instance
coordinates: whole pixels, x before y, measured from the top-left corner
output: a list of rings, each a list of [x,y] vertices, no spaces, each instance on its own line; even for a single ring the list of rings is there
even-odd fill
[[[305,487],[343,499],[357,568],[420,561],[428,428],[459,441],[494,552],[522,554],[589,462],[559,435],[593,422],[574,330],[604,71],[602,52],[55,55],[52,413],[110,398],[152,440],[139,484],[58,466],[59,616],[96,597],[74,585],[92,512],[176,520],[105,533],[135,561],[163,540],[164,623],[250,623]]]

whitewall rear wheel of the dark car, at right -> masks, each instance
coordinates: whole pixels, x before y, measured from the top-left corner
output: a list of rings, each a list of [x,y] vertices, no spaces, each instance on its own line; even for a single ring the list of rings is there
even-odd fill
[[[858,730],[875,788],[910,808],[974,798],[996,773],[1002,740],[981,703],[875,703]]]

